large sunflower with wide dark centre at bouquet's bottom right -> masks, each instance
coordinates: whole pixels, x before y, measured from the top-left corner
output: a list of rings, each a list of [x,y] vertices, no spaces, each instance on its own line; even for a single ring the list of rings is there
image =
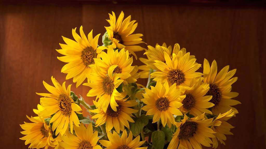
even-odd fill
[[[184,115],[182,122],[176,122],[177,131],[173,134],[173,138],[169,143],[167,149],[176,149],[179,142],[178,149],[201,149],[203,146],[210,147],[212,141],[210,138],[215,138],[215,132],[209,128],[213,125],[212,119],[204,119],[204,113],[200,116],[191,118]],[[210,138],[209,138],[210,137]]]

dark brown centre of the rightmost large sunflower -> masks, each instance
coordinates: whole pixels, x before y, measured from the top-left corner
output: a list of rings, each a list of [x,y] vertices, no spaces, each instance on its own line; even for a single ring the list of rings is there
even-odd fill
[[[210,84],[210,89],[206,93],[206,95],[212,95],[213,98],[211,98],[210,102],[215,104],[215,106],[219,105],[219,103],[221,101],[221,98],[222,98],[222,92],[221,92],[221,90],[219,89],[219,87],[217,85]]]

